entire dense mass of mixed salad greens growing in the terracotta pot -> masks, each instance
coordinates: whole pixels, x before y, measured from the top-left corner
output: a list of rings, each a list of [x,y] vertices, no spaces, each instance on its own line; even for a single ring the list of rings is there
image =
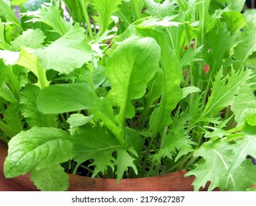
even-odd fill
[[[196,191],[255,190],[256,21],[244,1],[76,3],[75,23],[60,1],[20,23],[0,1],[5,177],[61,191],[68,174],[118,185],[186,169]]]

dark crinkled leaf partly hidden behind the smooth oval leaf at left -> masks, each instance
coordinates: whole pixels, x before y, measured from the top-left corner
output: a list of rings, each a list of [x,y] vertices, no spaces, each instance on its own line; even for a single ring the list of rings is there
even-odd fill
[[[35,100],[40,88],[35,85],[27,85],[20,94],[21,114],[26,118],[30,127],[56,127],[57,116],[45,115],[38,111]]]

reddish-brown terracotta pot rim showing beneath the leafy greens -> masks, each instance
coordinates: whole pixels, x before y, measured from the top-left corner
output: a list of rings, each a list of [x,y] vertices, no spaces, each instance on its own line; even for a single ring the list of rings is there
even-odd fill
[[[38,191],[30,174],[5,179],[3,165],[7,157],[7,146],[0,141],[0,191]],[[186,170],[156,177],[122,179],[117,185],[114,179],[102,179],[69,175],[69,191],[193,191],[194,177],[184,177]]]

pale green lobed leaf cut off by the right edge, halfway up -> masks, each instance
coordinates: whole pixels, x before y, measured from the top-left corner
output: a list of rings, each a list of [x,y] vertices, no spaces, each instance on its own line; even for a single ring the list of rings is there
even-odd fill
[[[241,125],[248,116],[256,114],[256,98],[252,88],[248,85],[241,85],[238,90],[238,96],[234,96],[232,112],[235,113],[235,121]]]

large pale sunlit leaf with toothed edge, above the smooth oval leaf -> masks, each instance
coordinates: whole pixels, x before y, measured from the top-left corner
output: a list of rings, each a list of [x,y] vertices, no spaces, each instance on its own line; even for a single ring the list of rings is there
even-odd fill
[[[82,27],[75,24],[61,38],[46,48],[35,51],[43,68],[69,74],[88,63],[92,54],[84,32]]]

